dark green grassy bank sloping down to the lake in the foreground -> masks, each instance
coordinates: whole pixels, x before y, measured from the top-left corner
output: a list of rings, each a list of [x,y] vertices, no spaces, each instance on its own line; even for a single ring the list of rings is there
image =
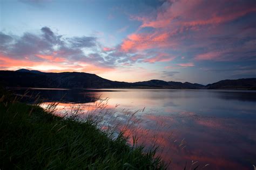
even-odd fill
[[[91,120],[60,118],[0,90],[1,169],[165,169],[155,150],[110,138]]]

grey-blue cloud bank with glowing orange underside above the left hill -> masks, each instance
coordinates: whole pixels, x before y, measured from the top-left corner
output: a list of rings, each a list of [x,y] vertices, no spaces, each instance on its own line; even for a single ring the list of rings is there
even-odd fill
[[[22,36],[0,32],[0,40],[1,68],[6,69],[73,69],[95,73],[97,70],[113,70],[120,59],[107,55],[96,37],[65,37],[50,27],[42,27],[41,34],[25,32]],[[85,47],[90,48],[90,52],[85,53]],[[41,67],[42,64],[47,66]]]

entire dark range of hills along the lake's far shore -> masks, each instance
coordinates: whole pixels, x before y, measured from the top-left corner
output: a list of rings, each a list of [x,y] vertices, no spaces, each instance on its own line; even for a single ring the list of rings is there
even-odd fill
[[[163,80],[128,83],[103,79],[90,73],[45,73],[38,70],[19,69],[0,70],[0,84],[7,87],[38,88],[256,89],[256,78],[222,80],[204,86],[198,83]]]

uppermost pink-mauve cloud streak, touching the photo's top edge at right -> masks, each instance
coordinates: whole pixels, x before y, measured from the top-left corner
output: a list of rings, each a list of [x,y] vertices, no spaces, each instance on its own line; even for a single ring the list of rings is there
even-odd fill
[[[197,26],[220,24],[255,12],[255,6],[234,1],[232,6],[227,6],[226,1],[205,2],[201,0],[181,0],[165,3],[157,11],[155,17],[132,16],[131,19],[142,22],[142,27],[166,28],[175,26]],[[191,28],[193,29],[193,28]]]

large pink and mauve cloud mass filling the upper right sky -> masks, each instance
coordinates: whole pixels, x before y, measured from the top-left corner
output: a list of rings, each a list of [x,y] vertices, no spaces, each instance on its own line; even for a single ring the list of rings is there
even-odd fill
[[[250,0],[165,1],[151,13],[130,15],[141,25],[123,40],[120,50],[134,54],[168,49],[196,61],[252,60],[255,13],[256,4]]]

